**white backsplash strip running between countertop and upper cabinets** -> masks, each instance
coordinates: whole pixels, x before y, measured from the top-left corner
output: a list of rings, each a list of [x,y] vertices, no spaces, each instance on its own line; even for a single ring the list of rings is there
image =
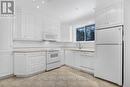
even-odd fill
[[[78,48],[79,43],[70,42],[38,42],[38,41],[14,41],[13,48]],[[95,43],[80,43],[83,49],[95,49]]]

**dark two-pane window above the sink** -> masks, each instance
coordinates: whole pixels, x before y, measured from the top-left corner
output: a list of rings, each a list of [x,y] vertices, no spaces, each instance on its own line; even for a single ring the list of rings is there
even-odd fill
[[[76,29],[76,41],[94,41],[95,24]]]

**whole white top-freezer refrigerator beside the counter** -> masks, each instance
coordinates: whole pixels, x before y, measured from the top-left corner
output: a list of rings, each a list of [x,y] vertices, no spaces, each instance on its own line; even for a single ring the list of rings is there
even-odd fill
[[[95,77],[122,85],[123,26],[96,30]]]

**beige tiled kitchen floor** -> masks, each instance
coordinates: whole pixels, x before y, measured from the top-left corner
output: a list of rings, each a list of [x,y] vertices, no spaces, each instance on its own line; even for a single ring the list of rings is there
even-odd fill
[[[118,87],[93,76],[62,67],[28,78],[0,80],[0,87]]]

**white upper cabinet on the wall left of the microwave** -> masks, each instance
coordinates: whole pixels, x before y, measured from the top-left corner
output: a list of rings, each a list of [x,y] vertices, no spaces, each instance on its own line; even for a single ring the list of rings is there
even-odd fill
[[[22,17],[22,38],[25,40],[42,40],[40,20],[37,15]]]

